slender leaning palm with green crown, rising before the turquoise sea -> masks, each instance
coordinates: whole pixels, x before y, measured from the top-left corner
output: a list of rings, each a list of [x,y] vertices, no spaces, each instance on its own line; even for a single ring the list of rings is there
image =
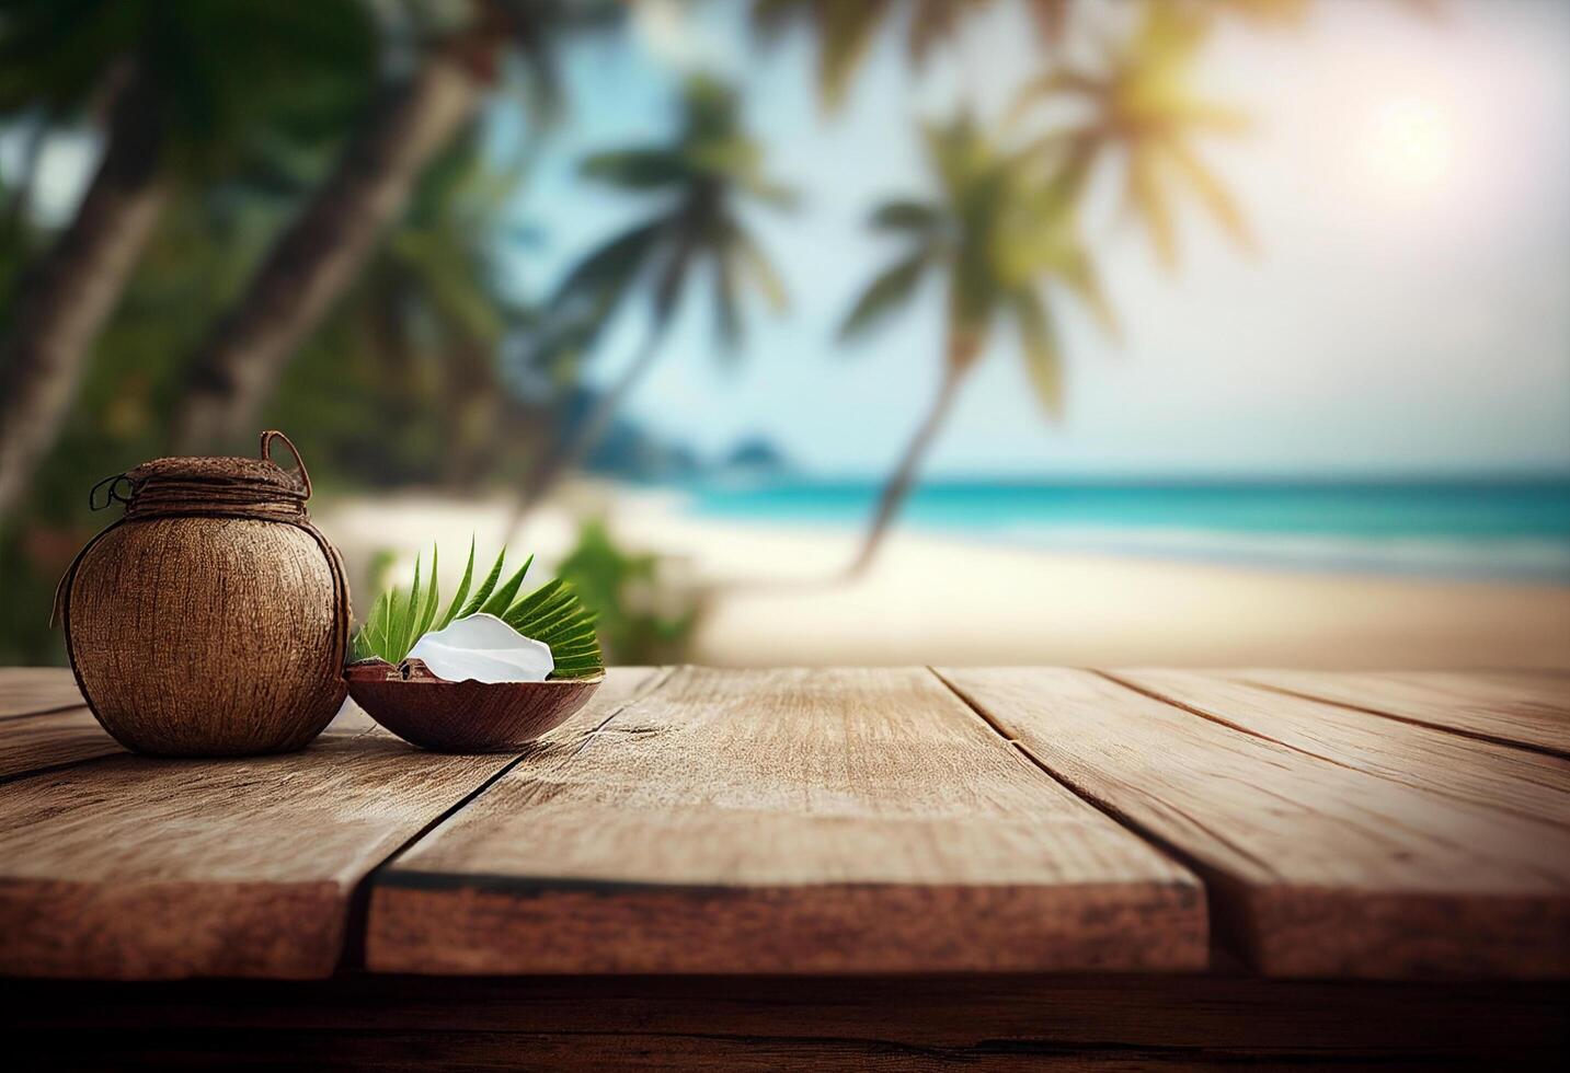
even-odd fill
[[[1014,323],[1030,383],[1053,419],[1063,408],[1063,383],[1049,289],[1066,289],[1108,331],[1116,331],[1079,238],[1074,193],[1063,184],[1042,182],[1031,155],[1002,152],[966,115],[926,127],[925,140],[937,198],[890,201],[873,213],[873,227],[903,238],[904,249],[862,293],[840,337],[864,336],[907,306],[928,273],[937,273],[947,290],[944,375],[931,409],[884,485],[849,566],[853,576],[878,554],[999,322]]]

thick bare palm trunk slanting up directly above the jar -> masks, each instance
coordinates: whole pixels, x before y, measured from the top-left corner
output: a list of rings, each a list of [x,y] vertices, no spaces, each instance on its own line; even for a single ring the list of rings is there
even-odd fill
[[[294,350],[353,282],[425,163],[468,122],[479,99],[474,77],[438,53],[372,107],[338,169],[273,243],[198,353],[176,419],[181,450],[223,442],[254,424]]]

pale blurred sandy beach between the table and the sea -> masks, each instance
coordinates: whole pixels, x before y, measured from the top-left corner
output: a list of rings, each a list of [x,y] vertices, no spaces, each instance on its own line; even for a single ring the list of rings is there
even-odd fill
[[[702,664],[1570,667],[1570,587],[1557,585],[1058,554],[909,530],[842,582],[851,529],[696,518],[674,496],[593,485],[532,516],[513,546],[550,569],[586,511],[626,547],[670,555],[670,584],[706,593],[691,653]],[[496,547],[506,516],[502,500],[399,496],[330,505],[320,524],[356,579],[356,606],[369,606],[360,579],[378,551],[411,560],[421,541],[462,547],[469,533]],[[452,580],[460,569],[443,563]]]

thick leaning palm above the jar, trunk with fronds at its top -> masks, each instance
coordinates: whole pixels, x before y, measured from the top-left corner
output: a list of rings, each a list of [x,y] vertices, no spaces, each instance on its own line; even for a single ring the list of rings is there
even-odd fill
[[[474,118],[510,56],[520,58],[546,115],[556,102],[554,52],[567,33],[604,27],[612,0],[473,0],[449,27],[451,5],[407,5],[422,63],[372,104],[333,174],[278,235],[234,307],[192,362],[176,442],[195,450],[253,424],[298,345],[353,284],[408,201],[419,174]],[[429,8],[429,11],[427,11]]]

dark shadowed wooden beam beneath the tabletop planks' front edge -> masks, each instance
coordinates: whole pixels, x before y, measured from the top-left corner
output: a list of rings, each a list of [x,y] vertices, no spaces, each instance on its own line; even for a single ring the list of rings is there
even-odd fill
[[[1557,1068],[1562,984],[1207,976],[27,982],[13,1053],[68,1068]]]

